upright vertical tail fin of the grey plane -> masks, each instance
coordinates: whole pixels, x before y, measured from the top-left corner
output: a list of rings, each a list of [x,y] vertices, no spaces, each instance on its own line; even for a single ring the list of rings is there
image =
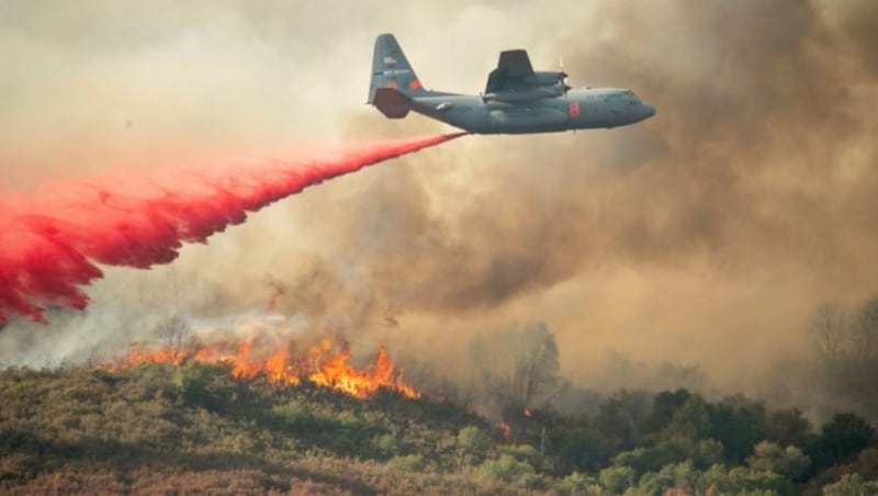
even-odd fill
[[[405,58],[396,37],[386,33],[380,34],[375,38],[375,52],[372,56],[372,80],[369,84],[369,103],[375,104],[375,93],[381,88],[398,90],[398,92],[407,97],[429,93],[420,86],[420,80],[415,75],[415,70],[412,69],[412,65],[408,64],[408,59]]]

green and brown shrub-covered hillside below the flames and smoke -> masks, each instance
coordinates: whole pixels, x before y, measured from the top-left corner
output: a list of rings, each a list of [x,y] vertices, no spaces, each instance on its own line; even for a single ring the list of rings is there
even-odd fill
[[[686,390],[504,426],[452,402],[237,381],[223,365],[0,371],[0,492],[875,494],[863,418]]]

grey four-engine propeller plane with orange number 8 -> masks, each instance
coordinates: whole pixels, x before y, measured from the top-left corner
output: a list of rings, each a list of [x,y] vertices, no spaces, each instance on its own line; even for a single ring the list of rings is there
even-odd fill
[[[472,134],[551,133],[611,128],[655,115],[633,91],[619,88],[572,89],[562,71],[534,71],[524,49],[500,52],[497,68],[481,94],[424,88],[396,38],[375,38],[369,102],[389,119],[409,111]]]

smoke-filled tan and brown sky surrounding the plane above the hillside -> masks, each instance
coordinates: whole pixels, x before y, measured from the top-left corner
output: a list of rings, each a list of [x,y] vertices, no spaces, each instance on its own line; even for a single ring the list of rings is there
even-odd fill
[[[112,303],[75,319],[92,324],[11,326],[0,359],[50,356],[38,334],[128,336],[151,315],[273,298],[438,370],[465,365],[476,332],[539,318],[575,380],[609,386],[603,364],[621,353],[741,387],[742,371],[811,352],[820,302],[878,291],[875,2],[436,3],[4,7],[0,170],[18,188],[434,132],[362,108],[386,31],[428,87],[477,92],[499,49],[524,47],[658,113],[609,132],[468,137],[306,191],[172,269],[114,272],[94,293]],[[112,297],[133,285],[148,305]]]

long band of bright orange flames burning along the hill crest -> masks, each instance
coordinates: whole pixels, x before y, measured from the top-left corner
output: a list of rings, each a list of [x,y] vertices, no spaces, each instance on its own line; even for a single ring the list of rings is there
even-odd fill
[[[350,359],[348,346],[339,347],[330,339],[323,339],[319,343],[311,346],[304,354],[295,353],[296,347],[292,341],[269,350],[260,345],[260,336],[256,336],[237,346],[217,343],[190,350],[165,348],[155,352],[138,347],[110,369],[127,369],[142,363],[179,365],[187,360],[229,363],[232,376],[235,379],[264,376],[278,385],[299,385],[307,381],[319,387],[340,391],[360,399],[372,396],[381,388],[395,391],[408,398],[420,397],[420,393],[403,381],[403,369],[393,363],[384,345],[381,345],[375,358],[362,370],[348,363]],[[228,353],[228,350],[234,351]]]

